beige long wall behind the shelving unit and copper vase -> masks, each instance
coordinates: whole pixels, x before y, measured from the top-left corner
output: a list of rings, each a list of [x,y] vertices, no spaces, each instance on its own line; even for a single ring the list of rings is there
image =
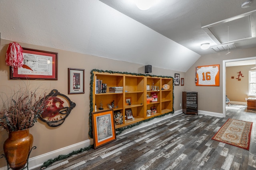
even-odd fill
[[[14,86],[28,80],[9,80],[9,67],[5,65],[5,54],[8,44],[12,41],[1,39],[0,46],[0,92],[9,93]],[[60,93],[68,96],[72,102],[76,103],[76,107],[71,111],[64,123],[59,127],[48,127],[46,123],[39,120],[38,123],[30,129],[30,133],[34,136],[34,146],[36,150],[31,152],[30,158],[38,156],[53,150],[67,147],[81,141],[89,139],[89,90],[90,90],[90,71],[92,69],[112,70],[120,72],[133,72],[144,74],[144,65],[127,63],[123,61],[111,60],[102,57],[84,55],[60,49],[52,49],[48,47],[29,45],[19,43],[22,47],[38,49],[44,51],[52,51],[58,53],[58,80],[30,80],[31,86],[42,86],[48,89],[57,89]],[[85,69],[85,93],[68,95],[68,68]],[[184,72],[176,72],[161,68],[152,68],[152,75],[174,76],[179,73],[180,78],[185,77]],[[186,84],[186,80],[185,80]],[[174,87],[174,111],[182,109],[182,91],[185,86]],[[2,103],[0,103],[2,108]],[[8,134],[4,129],[0,129],[0,154],[3,154],[2,146],[8,138]],[[49,158],[50,159],[50,158]],[[4,159],[0,159],[0,167],[6,166]]]

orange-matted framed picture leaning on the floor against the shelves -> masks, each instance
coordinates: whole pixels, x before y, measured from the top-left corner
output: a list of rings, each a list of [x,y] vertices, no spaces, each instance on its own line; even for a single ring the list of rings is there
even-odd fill
[[[113,109],[92,113],[94,149],[116,140]]]

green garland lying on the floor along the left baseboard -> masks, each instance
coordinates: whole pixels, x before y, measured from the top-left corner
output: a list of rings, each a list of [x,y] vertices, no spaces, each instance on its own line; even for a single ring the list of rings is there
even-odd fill
[[[89,145],[88,147],[85,148],[81,148],[79,150],[74,150],[72,152],[70,152],[69,154],[61,154],[58,157],[54,158],[54,159],[49,159],[46,162],[44,162],[44,164],[41,166],[41,169],[45,169],[48,166],[50,166],[51,164],[53,164],[54,162],[60,161],[60,160],[64,160],[70,156],[73,156],[75,154],[79,154],[81,152],[84,152],[86,150],[90,150],[92,148],[92,145]]]

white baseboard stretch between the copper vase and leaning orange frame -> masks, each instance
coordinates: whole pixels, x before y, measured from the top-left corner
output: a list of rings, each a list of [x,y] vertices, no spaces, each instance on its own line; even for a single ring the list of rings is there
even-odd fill
[[[28,168],[29,169],[38,168],[39,166],[42,166],[44,164],[44,162],[46,162],[47,160],[49,160],[51,158],[56,158],[61,154],[69,154],[70,152],[72,152],[74,150],[79,150],[81,148],[88,147],[92,144],[93,144],[93,139],[89,139],[86,141],[82,141],[80,143],[76,143],[74,145],[70,145],[68,147],[64,147],[64,148],[61,148],[58,150],[54,150],[52,152],[48,152],[45,154],[41,154],[39,156],[35,156],[33,158],[28,159]],[[32,150],[32,152],[33,152],[33,150]],[[0,168],[0,170],[6,170],[6,169],[7,169],[7,166]]]

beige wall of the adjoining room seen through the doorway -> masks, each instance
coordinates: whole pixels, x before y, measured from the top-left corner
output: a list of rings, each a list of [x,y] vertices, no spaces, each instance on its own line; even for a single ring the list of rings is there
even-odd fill
[[[246,102],[245,98],[248,98],[249,90],[249,70],[255,67],[255,65],[247,66],[232,66],[226,67],[226,95],[230,101],[234,102]],[[241,79],[238,81],[238,72],[242,73]],[[234,78],[231,78],[231,77]]]

